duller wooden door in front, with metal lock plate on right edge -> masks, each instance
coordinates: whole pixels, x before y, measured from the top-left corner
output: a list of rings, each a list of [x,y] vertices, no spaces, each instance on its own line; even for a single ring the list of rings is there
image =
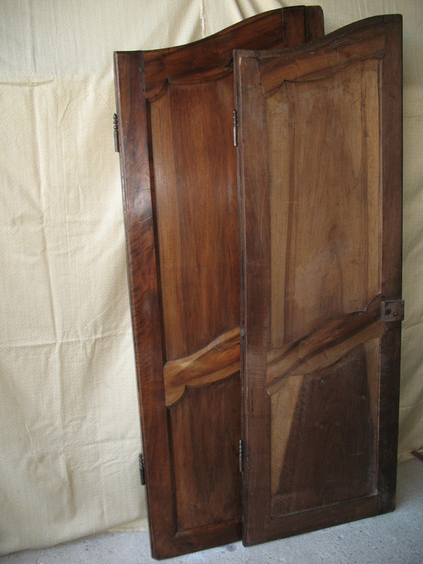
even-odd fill
[[[240,51],[235,76],[250,545],[394,505],[401,18]]]

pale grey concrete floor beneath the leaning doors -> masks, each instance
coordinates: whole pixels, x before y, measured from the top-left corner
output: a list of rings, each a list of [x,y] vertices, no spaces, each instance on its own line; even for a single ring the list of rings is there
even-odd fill
[[[0,557],[0,564],[148,564],[147,533],[97,534],[44,550]],[[347,525],[245,548],[240,542],[169,558],[168,564],[422,564],[423,462],[398,467],[397,509]]]

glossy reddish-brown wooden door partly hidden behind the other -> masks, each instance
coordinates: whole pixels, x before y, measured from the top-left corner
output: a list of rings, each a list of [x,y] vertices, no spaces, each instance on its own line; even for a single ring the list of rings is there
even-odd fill
[[[152,553],[241,534],[233,49],[323,35],[283,8],[200,42],[116,53],[130,305]]]

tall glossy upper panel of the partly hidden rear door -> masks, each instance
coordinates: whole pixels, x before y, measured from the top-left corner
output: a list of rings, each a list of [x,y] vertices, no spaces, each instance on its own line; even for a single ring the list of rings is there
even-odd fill
[[[228,75],[149,105],[167,360],[239,325],[232,104]]]

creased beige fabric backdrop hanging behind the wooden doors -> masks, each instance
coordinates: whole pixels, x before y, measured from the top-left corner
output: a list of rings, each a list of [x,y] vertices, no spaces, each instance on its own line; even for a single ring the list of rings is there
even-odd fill
[[[113,51],[190,42],[295,4],[1,1],[0,553],[146,527]],[[423,3],[320,4],[326,32],[404,16],[405,460],[423,446]]]

